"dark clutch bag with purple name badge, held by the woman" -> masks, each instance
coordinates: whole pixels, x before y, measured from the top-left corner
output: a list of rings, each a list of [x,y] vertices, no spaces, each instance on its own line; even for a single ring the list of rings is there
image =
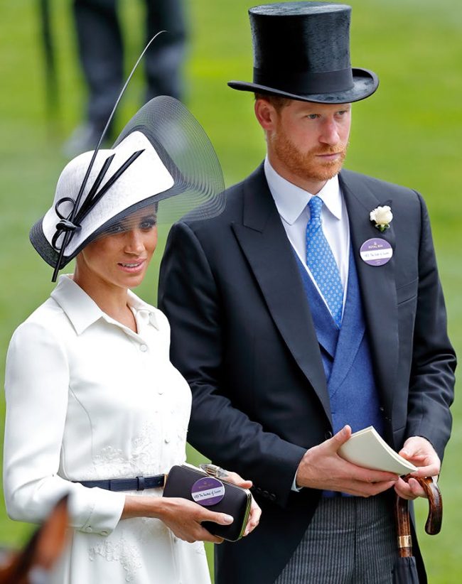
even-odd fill
[[[234,517],[230,525],[203,521],[203,527],[211,534],[237,541],[245,531],[252,504],[252,494],[222,478],[217,479],[192,465],[171,467],[163,487],[163,497],[181,497],[203,505],[205,509],[226,513]]]

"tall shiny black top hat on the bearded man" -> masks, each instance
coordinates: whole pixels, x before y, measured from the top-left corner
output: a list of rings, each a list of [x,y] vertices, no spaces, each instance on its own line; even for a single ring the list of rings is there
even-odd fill
[[[306,102],[358,102],[379,80],[350,64],[351,6],[281,2],[249,9],[254,81],[230,81],[232,89]]]

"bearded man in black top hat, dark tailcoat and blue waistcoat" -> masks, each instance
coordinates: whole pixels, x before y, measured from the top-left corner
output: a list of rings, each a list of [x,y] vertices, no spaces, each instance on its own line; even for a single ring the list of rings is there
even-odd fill
[[[159,288],[188,439],[262,507],[252,536],[217,546],[216,581],[390,583],[394,492],[424,493],[338,448],[375,426],[417,475],[439,474],[456,360],[429,219],[415,191],[340,171],[351,102],[378,85],[350,66],[350,7],[249,14],[254,82],[229,85],[257,92],[267,158],[222,215],[173,227]]]

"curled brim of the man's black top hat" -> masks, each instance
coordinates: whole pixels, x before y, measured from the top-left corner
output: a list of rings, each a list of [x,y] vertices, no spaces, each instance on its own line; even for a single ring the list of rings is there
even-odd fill
[[[329,103],[329,104],[347,104],[359,102],[372,95],[379,86],[379,79],[374,72],[367,69],[353,69],[354,85],[350,90],[322,93],[322,94],[297,94],[267,85],[249,83],[245,81],[230,81],[229,85],[233,90],[250,91],[256,93],[267,93],[287,97],[288,99],[297,99],[301,102]]]

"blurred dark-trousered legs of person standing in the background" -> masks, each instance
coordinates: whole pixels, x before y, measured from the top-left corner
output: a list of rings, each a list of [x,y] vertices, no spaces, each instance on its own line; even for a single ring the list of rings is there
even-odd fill
[[[64,145],[66,156],[95,148],[124,79],[124,47],[119,0],[73,0],[77,50],[88,90],[85,121]],[[183,96],[186,49],[183,0],[144,0],[146,42],[162,33],[144,56],[146,102],[156,95]]]

